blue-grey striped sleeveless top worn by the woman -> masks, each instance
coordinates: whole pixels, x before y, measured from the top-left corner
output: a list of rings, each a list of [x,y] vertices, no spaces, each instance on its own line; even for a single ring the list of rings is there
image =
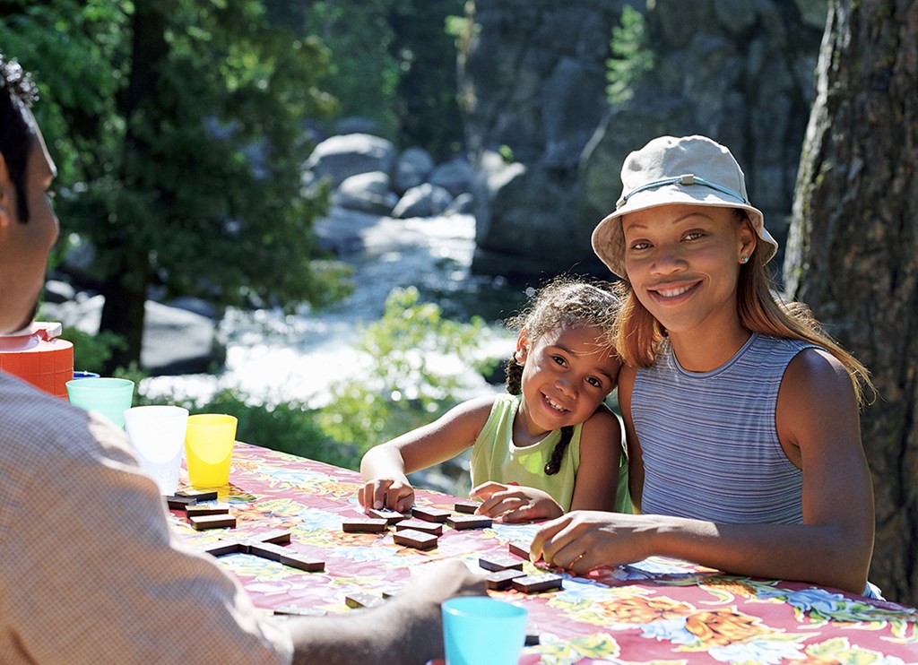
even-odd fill
[[[716,370],[685,371],[665,342],[634,380],[643,512],[723,524],[802,522],[802,471],[778,443],[778,388],[812,344],[753,334]]]

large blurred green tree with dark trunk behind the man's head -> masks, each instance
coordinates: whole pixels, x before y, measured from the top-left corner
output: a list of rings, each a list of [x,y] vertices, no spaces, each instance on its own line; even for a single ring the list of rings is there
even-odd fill
[[[152,285],[218,305],[322,304],[303,118],[330,113],[326,53],[271,25],[260,0],[50,0],[0,5],[0,40],[36,73],[62,161],[65,229],[97,249],[101,329],[140,359]]]

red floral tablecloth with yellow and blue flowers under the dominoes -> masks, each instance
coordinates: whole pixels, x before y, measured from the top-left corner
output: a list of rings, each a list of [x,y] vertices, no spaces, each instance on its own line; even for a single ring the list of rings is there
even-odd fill
[[[294,605],[327,614],[352,611],[348,593],[396,591],[424,563],[459,557],[473,570],[485,552],[508,552],[509,541],[532,539],[533,525],[471,531],[443,529],[437,548],[398,546],[385,534],[345,533],[341,521],[360,516],[359,474],[274,450],[237,443],[229,486],[234,529],[197,532],[182,511],[175,530],[188,541],[283,528],[285,546],[325,561],[304,572],[234,553],[219,558],[270,612]],[[419,491],[419,504],[451,509],[455,497]],[[528,561],[524,570],[542,572]],[[483,573],[486,571],[482,571]],[[678,560],[651,558],[631,566],[565,573],[560,591],[490,594],[529,610],[539,644],[523,650],[534,663],[918,663],[918,611],[800,582],[733,577]]]

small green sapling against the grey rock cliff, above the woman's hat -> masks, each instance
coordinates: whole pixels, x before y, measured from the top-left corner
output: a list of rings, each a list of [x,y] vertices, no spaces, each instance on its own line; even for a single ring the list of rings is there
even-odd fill
[[[644,15],[633,6],[623,6],[621,25],[612,28],[613,57],[606,61],[606,95],[611,105],[630,100],[634,83],[654,68],[655,53],[648,44]]]

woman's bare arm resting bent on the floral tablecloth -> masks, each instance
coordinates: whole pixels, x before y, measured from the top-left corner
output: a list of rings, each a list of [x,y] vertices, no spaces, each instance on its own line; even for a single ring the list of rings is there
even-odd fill
[[[863,593],[873,549],[873,490],[854,391],[837,360],[806,350],[790,362],[778,393],[778,437],[792,461],[799,451],[801,525],[578,512],[543,526],[532,555],[583,573],[657,554]]]

